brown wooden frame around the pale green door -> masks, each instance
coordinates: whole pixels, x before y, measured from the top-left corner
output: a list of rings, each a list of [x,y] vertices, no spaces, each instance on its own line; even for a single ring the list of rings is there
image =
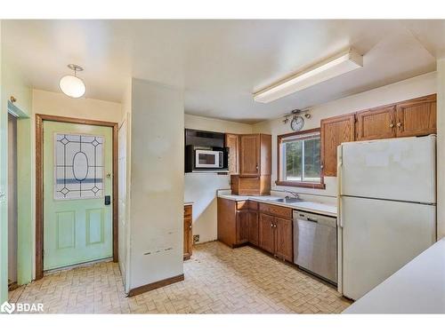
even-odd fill
[[[118,261],[118,174],[117,123],[69,118],[58,115],[36,115],[36,280],[44,277],[44,121],[107,126],[113,129],[113,262]]]

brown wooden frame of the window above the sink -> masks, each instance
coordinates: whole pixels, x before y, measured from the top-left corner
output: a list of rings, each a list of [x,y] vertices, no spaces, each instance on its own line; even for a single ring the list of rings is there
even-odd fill
[[[321,163],[321,131],[319,128],[306,130],[306,131],[298,131],[298,132],[291,132],[287,134],[281,134],[277,136],[277,180],[275,181],[275,185],[277,186],[293,186],[293,187],[304,187],[304,188],[318,188],[318,189],[325,189],[326,185],[324,182],[323,177],[323,169],[320,165],[320,183],[312,183],[312,182],[306,182],[306,181],[295,181],[295,180],[282,180],[282,174],[281,174],[281,143],[283,139],[286,139],[288,137],[295,137],[300,135],[306,135],[306,134],[312,134],[312,133],[320,133],[320,163]]]

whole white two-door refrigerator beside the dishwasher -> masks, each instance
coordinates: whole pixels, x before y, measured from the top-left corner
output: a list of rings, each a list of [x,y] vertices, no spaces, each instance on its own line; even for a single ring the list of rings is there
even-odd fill
[[[436,137],[338,147],[338,291],[359,299],[436,241]]]

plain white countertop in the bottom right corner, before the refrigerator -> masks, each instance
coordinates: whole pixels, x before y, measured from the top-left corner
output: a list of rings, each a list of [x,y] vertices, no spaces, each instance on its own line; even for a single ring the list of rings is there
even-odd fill
[[[445,313],[445,238],[343,313]]]

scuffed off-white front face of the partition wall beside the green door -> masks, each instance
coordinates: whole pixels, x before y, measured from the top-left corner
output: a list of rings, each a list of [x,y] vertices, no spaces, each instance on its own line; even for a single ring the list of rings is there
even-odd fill
[[[182,91],[133,79],[130,288],[183,273]]]

